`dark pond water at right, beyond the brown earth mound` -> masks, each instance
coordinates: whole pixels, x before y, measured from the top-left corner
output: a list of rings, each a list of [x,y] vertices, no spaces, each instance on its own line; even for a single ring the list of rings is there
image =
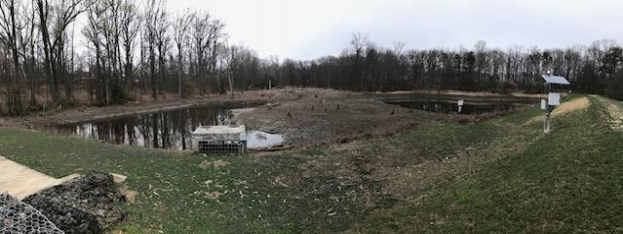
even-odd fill
[[[435,112],[441,114],[457,114],[458,104],[456,100],[435,100],[435,99],[402,99],[385,101],[387,104],[399,105],[405,108]],[[470,102],[465,101],[461,109],[461,114],[477,115],[490,112],[512,111],[525,106],[525,103],[517,102]]]

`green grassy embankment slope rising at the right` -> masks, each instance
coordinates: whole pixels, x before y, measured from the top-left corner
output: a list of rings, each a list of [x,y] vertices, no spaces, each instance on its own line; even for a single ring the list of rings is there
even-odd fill
[[[604,106],[594,98],[591,104],[557,118],[554,132],[525,151],[372,216],[359,230],[623,232],[623,133],[607,127]]]

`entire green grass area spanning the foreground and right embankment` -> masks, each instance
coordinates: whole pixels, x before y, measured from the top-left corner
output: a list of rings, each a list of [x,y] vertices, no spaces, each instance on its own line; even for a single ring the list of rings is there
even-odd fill
[[[0,155],[56,177],[127,175],[140,193],[118,227],[127,233],[623,232],[623,134],[607,128],[593,99],[555,118],[547,136],[541,123],[526,124],[541,114],[535,107],[465,125],[421,119],[417,130],[350,147],[264,157],[0,129]],[[231,164],[198,166],[221,159]],[[404,177],[426,162],[443,173]],[[405,180],[421,185],[395,186]]]

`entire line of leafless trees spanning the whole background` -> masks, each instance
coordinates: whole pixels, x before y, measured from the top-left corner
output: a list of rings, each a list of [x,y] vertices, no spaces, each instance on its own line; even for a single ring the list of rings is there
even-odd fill
[[[0,3],[0,115],[269,86],[540,92],[546,71],[569,78],[573,90],[623,99],[623,49],[612,40],[566,49],[502,50],[480,41],[473,48],[405,50],[356,33],[339,56],[280,61],[231,45],[225,23],[209,12],[172,13],[165,0]]]

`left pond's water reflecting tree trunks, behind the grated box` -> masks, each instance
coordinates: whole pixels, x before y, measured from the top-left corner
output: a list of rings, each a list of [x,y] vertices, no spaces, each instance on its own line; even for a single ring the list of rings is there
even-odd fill
[[[242,111],[241,111],[242,110]],[[191,134],[200,126],[235,125],[243,109],[225,106],[196,106],[151,114],[54,126],[52,131],[114,144],[185,150],[192,147]],[[262,149],[282,144],[284,137],[247,129],[247,147]]]

